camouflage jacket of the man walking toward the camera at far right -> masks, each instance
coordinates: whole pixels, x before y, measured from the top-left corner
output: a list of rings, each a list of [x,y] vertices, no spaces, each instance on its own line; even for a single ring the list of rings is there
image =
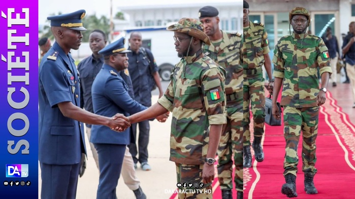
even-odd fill
[[[281,105],[297,108],[317,106],[320,75],[332,74],[328,48],[312,34],[283,36],[275,46],[274,77],[283,78]]]

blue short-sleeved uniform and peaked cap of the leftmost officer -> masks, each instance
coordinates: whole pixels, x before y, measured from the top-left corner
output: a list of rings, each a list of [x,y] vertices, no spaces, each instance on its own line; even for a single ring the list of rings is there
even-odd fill
[[[85,11],[48,17],[51,26],[85,30]],[[42,198],[75,198],[81,153],[86,154],[80,122],[64,116],[61,102],[80,106],[78,71],[74,59],[54,43],[39,68],[39,161]]]

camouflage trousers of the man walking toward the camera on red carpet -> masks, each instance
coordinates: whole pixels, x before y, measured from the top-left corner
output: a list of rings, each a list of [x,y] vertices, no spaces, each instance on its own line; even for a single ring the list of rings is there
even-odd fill
[[[314,168],[317,158],[315,156],[315,139],[318,131],[319,107],[295,108],[284,106],[283,123],[286,141],[286,154],[283,162],[283,175],[291,173],[296,176],[298,165],[297,146],[302,130],[302,171],[315,174]]]

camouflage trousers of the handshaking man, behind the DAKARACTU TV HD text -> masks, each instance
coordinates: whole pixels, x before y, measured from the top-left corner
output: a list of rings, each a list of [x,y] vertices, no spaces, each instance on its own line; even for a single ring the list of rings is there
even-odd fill
[[[202,179],[202,169],[203,165],[185,165],[185,164],[176,164],[176,176],[177,182],[181,183],[201,183]],[[184,189],[185,191],[179,192],[179,199],[212,199],[212,187],[210,184],[205,184],[205,186],[201,188],[189,188],[189,187],[181,187],[179,189]],[[190,190],[186,190],[190,189]],[[199,191],[197,191],[199,189]],[[209,189],[209,190],[208,190]]]

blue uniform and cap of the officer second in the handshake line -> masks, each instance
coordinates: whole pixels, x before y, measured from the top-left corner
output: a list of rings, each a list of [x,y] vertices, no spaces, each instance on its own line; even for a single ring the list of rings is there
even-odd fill
[[[105,47],[99,54],[110,56],[114,53],[129,52],[124,48],[124,38]],[[119,71],[104,63],[92,84],[92,105],[94,113],[125,116],[145,110],[147,107],[133,100]],[[116,187],[121,172],[125,147],[130,143],[130,128],[121,133],[109,127],[92,125],[90,142],[99,154],[100,179],[96,198],[116,198]]]

